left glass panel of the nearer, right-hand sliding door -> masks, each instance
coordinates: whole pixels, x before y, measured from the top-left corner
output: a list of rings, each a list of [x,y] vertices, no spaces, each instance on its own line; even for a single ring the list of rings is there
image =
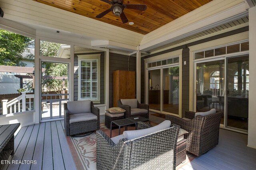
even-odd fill
[[[196,111],[215,108],[224,112],[224,63],[225,60],[196,63]]]

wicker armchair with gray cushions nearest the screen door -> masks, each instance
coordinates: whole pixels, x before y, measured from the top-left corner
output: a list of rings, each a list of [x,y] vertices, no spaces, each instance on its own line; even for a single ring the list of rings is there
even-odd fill
[[[100,129],[100,109],[90,100],[64,104],[64,125],[67,136],[92,132]]]

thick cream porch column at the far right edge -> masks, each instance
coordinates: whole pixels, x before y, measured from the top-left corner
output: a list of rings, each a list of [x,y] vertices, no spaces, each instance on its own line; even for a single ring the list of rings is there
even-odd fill
[[[250,72],[250,90],[249,90],[249,115],[248,115],[248,147],[252,147],[256,149],[256,88],[254,88],[254,84],[256,84],[256,67],[254,66],[256,63],[256,6],[249,9],[249,72]]]

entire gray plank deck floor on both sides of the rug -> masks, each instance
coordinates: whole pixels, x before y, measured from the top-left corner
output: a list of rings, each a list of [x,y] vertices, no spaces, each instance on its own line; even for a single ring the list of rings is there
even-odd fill
[[[6,164],[3,170],[76,170],[63,126],[63,121],[52,121],[22,127],[14,139],[12,160],[36,164]],[[179,170],[256,170],[256,149],[246,147],[247,137],[220,129],[219,145]]]

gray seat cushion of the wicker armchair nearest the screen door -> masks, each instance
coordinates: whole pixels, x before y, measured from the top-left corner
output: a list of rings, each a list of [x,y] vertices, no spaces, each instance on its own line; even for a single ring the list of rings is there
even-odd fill
[[[98,117],[93,113],[76,113],[69,115],[69,123],[76,123],[81,121],[97,120]]]

